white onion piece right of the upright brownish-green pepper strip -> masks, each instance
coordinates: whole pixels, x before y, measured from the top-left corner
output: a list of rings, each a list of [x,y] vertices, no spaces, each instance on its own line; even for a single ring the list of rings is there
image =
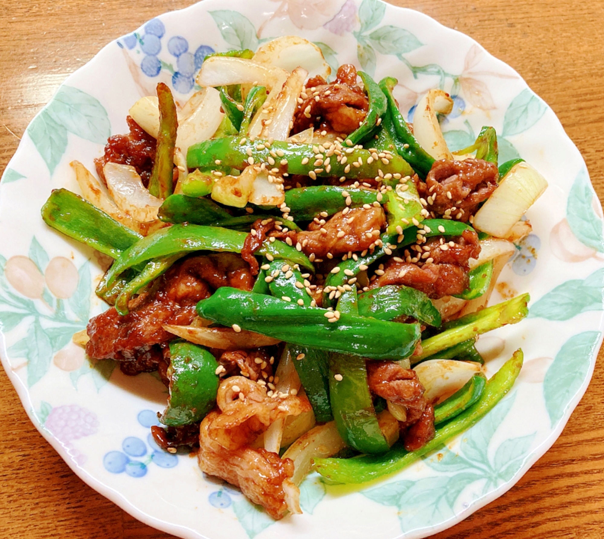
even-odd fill
[[[191,97],[194,104],[183,120],[178,122],[176,147],[186,156],[187,150],[193,144],[209,139],[222,122],[223,112],[220,112],[220,92],[215,88],[204,88]]]

